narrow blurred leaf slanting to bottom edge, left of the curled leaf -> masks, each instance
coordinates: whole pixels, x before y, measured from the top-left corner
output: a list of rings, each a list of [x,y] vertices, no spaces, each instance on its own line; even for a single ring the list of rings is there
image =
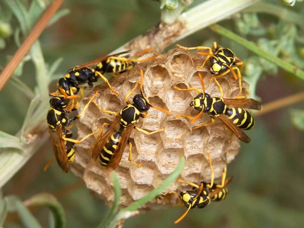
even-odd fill
[[[18,212],[20,219],[25,227],[28,228],[42,228],[37,219],[30,213],[30,211],[23,205],[22,201],[15,196],[7,197],[10,211]]]

